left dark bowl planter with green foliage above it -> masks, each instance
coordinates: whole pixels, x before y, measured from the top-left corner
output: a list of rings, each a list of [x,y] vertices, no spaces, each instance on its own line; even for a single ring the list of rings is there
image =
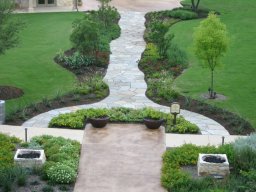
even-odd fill
[[[86,114],[87,122],[95,128],[105,127],[109,121],[108,111],[106,109],[90,109]]]

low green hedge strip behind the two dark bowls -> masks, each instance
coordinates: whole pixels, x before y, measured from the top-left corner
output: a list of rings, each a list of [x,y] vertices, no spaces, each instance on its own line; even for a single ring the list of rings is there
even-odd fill
[[[73,113],[60,114],[52,118],[49,127],[63,127],[72,129],[84,129],[86,119],[97,114],[107,114],[111,122],[142,123],[148,116],[155,116],[165,121],[166,132],[177,133],[198,133],[199,128],[183,117],[177,118],[177,125],[172,126],[173,116],[152,108],[131,109],[131,108],[111,108],[111,109],[82,109]]]

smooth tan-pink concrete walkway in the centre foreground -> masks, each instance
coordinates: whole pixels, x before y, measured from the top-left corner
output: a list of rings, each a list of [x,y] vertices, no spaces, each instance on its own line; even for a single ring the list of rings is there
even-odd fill
[[[160,184],[163,127],[86,126],[74,192],[164,192]]]

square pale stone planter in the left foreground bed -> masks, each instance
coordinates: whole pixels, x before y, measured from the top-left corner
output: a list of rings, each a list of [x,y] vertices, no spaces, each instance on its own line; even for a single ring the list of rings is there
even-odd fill
[[[42,166],[46,161],[44,150],[18,149],[14,162],[22,167]]]

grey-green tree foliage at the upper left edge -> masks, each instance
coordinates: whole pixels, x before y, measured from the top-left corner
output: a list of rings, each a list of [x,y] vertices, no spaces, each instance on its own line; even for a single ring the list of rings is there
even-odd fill
[[[18,33],[23,23],[12,15],[14,9],[14,1],[0,0],[0,55],[19,42]]]

